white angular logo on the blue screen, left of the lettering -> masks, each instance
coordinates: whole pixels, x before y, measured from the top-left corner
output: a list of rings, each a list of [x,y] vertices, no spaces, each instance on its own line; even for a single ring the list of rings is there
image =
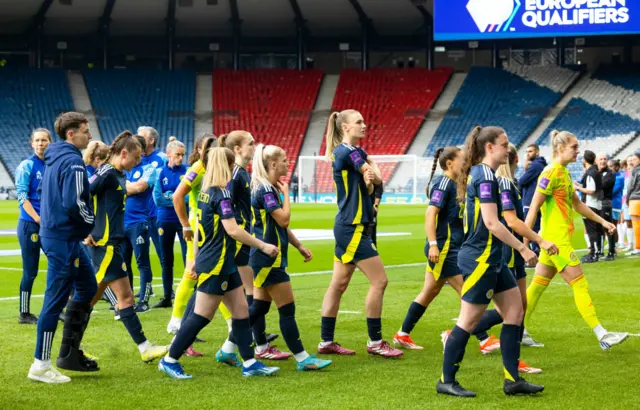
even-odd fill
[[[497,33],[509,31],[520,6],[520,0],[469,0],[467,11],[481,33]]]

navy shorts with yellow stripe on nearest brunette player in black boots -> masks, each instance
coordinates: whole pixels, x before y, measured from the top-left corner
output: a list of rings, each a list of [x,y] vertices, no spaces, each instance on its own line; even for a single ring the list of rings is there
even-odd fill
[[[506,264],[481,266],[475,260],[458,258],[464,278],[462,300],[474,305],[488,305],[496,293],[518,286],[514,274]]]

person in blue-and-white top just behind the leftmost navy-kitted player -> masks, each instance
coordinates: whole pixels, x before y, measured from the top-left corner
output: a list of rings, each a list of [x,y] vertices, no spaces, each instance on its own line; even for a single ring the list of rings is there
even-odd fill
[[[144,137],[134,136],[142,151],[146,150]],[[143,157],[144,158],[144,157]],[[149,297],[151,296],[151,261],[149,260],[149,201],[153,201],[153,184],[157,175],[156,168],[142,163],[127,171],[127,203],[124,211],[125,240],[123,243],[124,261],[131,265],[131,258],[135,254],[138,271],[140,272],[140,295],[136,304],[136,313],[149,311]],[[154,204],[155,207],[155,204]],[[129,281],[133,288],[133,269],[129,269]]]

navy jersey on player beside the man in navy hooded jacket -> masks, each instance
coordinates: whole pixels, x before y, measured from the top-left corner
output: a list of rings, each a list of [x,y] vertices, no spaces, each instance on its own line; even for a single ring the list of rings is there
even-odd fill
[[[91,236],[98,246],[117,244],[125,236],[126,182],[125,173],[109,164],[102,165],[89,179],[96,216]]]

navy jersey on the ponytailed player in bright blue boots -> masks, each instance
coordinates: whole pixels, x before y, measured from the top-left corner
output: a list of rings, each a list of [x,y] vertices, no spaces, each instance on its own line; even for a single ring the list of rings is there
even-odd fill
[[[196,256],[196,273],[230,275],[236,272],[236,241],[222,226],[223,219],[234,217],[231,194],[226,189],[216,187],[201,191],[197,212],[200,249]]]

